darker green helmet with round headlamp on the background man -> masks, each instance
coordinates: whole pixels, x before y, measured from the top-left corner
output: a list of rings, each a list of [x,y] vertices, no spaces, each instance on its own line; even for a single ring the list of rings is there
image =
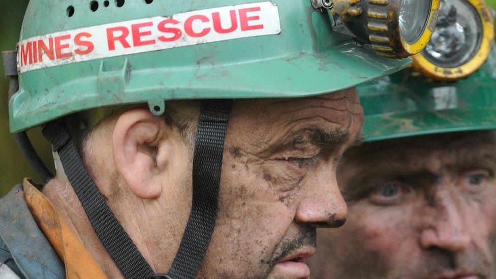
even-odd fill
[[[457,21],[449,22],[454,11],[460,12]],[[496,129],[490,15],[483,1],[441,1],[438,26],[429,45],[414,56],[414,66],[358,87],[366,141]]]

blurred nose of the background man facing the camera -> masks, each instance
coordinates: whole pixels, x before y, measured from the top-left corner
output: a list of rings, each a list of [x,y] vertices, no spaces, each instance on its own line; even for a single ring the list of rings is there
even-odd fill
[[[437,247],[450,252],[466,249],[471,241],[461,204],[454,198],[437,199],[432,208],[435,218],[421,234],[421,245],[425,249]]]

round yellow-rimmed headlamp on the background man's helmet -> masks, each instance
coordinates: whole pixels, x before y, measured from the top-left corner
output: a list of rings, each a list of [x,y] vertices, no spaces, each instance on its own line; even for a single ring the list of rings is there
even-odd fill
[[[439,21],[413,67],[442,81],[466,78],[487,60],[494,40],[494,18],[483,0],[441,0]]]

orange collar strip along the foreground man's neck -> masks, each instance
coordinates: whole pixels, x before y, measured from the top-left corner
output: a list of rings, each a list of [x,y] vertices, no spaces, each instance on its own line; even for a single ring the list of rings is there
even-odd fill
[[[66,266],[66,277],[107,278],[81,241],[55,212],[52,203],[28,179],[24,180],[23,190],[27,207],[38,227]]]

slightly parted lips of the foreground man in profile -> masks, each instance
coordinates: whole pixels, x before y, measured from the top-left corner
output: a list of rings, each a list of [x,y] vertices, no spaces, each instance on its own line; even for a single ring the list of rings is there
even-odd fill
[[[280,269],[287,278],[307,278],[310,276],[310,268],[303,261],[314,254],[315,249],[297,251],[284,257],[275,265],[275,268]]]

